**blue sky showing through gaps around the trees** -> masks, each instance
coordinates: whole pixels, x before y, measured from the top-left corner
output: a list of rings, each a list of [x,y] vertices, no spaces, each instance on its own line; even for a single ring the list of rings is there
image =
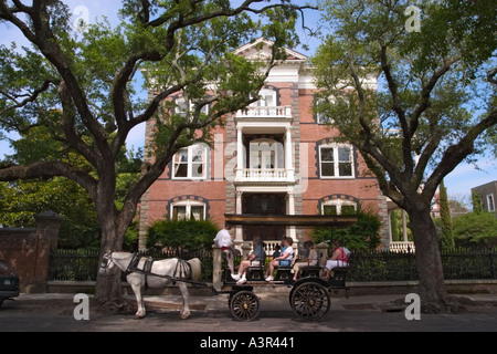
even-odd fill
[[[73,12],[74,21],[83,19],[86,22],[95,23],[96,19],[107,17],[110,23],[117,21],[117,10],[120,6],[120,0],[66,0],[64,1]],[[237,2],[237,1],[236,1]],[[318,22],[318,11],[306,11],[305,24],[307,27],[315,27]],[[13,25],[6,25],[0,23],[0,44],[10,45],[11,42],[18,43],[18,46],[27,44],[25,39],[19,30]],[[309,49],[297,48],[296,50],[305,55],[313,55],[319,42],[302,32],[300,42],[309,46]],[[15,138],[15,136],[10,136]],[[141,124],[133,129],[129,134],[128,147],[142,147],[145,140],[145,125]],[[0,157],[11,153],[9,144],[6,140],[0,140]],[[475,164],[461,163],[448,176],[445,178],[445,186],[447,187],[448,196],[451,198],[465,199],[466,204],[469,200],[470,188],[497,180],[497,160],[488,153],[486,156],[478,157]],[[461,200],[459,200],[461,201]]]

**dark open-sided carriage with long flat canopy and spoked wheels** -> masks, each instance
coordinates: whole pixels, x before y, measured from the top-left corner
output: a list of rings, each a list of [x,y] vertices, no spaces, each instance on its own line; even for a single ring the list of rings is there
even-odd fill
[[[225,215],[226,222],[232,225],[261,225],[261,226],[322,226],[332,228],[348,227],[357,221],[356,216],[240,216]],[[303,277],[296,282],[292,281],[290,267],[279,267],[273,287],[289,287],[289,305],[302,320],[317,321],[324,317],[331,305],[330,292],[345,289],[348,295],[346,278],[348,267],[335,268],[328,280],[319,278],[320,267],[308,266],[303,268]],[[229,270],[224,270],[224,288],[230,288]],[[260,299],[254,290],[267,282],[263,281],[263,269],[248,268],[246,284],[232,284],[231,289],[220,293],[229,293],[229,306],[236,321],[253,321],[260,314]]]

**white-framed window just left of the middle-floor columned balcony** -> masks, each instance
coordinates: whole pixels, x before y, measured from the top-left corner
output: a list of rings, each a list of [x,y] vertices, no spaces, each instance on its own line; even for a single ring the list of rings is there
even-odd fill
[[[172,179],[204,179],[208,169],[207,145],[181,148],[172,158]]]

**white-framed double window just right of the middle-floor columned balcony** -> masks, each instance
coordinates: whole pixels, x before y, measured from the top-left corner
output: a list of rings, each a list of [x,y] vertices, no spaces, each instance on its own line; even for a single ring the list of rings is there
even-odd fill
[[[321,178],[353,176],[353,149],[348,144],[327,144],[319,146]]]

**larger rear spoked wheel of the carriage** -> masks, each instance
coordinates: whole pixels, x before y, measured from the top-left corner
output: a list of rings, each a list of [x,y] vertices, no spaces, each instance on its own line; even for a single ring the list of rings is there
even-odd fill
[[[330,299],[328,290],[315,282],[306,282],[292,289],[292,310],[303,320],[317,321],[329,310]]]

